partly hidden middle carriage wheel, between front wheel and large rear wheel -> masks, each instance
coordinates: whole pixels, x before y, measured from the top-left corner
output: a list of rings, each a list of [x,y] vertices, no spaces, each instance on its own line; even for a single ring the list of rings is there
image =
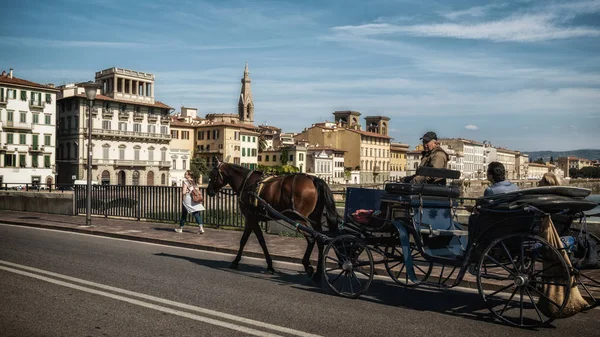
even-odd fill
[[[401,246],[387,246],[385,247],[385,254],[385,270],[388,272],[392,280],[398,284],[406,287],[416,287],[422,282],[425,282],[429,275],[431,275],[433,263],[425,260],[423,255],[421,255],[419,250],[413,244],[410,245],[410,254],[413,258],[415,276],[417,277],[416,282],[413,282],[410,278],[408,278],[406,265],[404,264],[404,254],[402,253]]]

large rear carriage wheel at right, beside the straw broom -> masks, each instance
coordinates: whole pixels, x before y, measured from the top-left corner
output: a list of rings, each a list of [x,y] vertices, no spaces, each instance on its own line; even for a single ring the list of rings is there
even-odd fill
[[[569,299],[570,278],[558,250],[528,234],[494,240],[477,270],[479,294],[488,309],[503,322],[523,328],[550,323],[561,314]]]

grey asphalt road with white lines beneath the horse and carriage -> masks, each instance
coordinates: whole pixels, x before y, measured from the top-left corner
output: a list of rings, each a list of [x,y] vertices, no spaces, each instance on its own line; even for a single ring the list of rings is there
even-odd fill
[[[298,265],[0,224],[0,336],[597,336],[594,309],[532,332],[472,290],[376,279],[351,300]]]

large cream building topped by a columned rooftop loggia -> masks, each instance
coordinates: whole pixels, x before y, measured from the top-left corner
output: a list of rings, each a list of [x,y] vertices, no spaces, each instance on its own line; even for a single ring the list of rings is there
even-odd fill
[[[171,107],[154,98],[153,74],[96,72],[91,111],[92,180],[106,185],[170,185]],[[58,182],[87,179],[88,101],[78,84],[59,87]]]

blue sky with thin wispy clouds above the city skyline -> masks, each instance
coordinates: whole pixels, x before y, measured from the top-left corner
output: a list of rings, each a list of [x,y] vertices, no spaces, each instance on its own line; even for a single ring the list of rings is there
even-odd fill
[[[521,151],[600,148],[600,0],[5,0],[0,69],[39,83],[121,67],[179,111],[299,132],[336,110]],[[362,120],[364,128],[364,119]]]

